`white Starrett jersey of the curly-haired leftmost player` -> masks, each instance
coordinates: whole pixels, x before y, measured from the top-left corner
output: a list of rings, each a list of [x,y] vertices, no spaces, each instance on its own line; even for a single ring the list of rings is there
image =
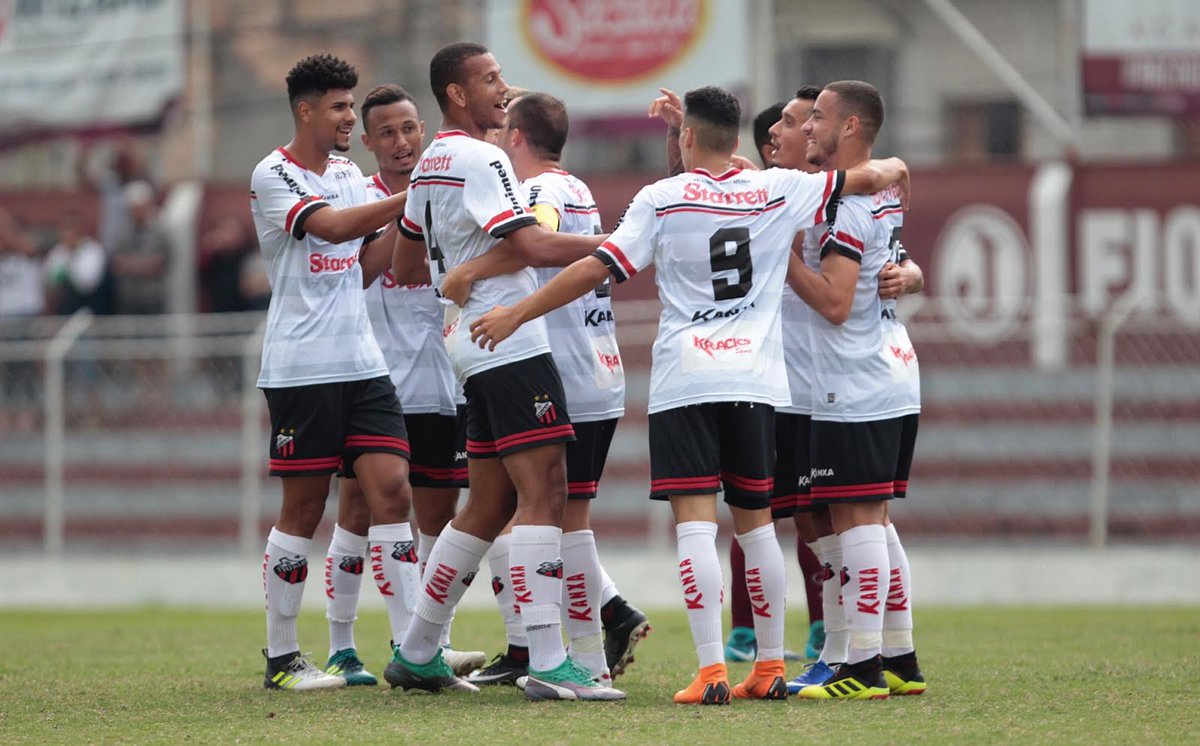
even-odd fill
[[[284,149],[254,167],[250,211],[271,281],[258,386],[306,386],[388,374],[362,302],[362,239],[330,243],[305,233],[325,206],[367,201],[362,172],[330,156],[325,173],[300,166]]]

